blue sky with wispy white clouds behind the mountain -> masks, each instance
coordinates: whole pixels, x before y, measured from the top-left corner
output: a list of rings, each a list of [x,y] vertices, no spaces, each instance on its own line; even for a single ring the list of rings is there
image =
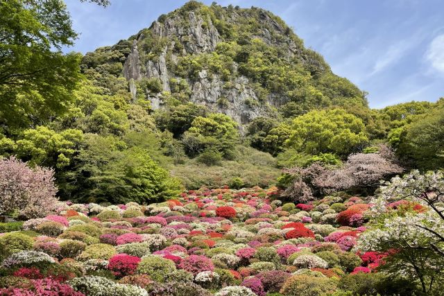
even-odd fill
[[[66,0],[80,33],[74,51],[112,45],[186,1],[111,0],[101,8]],[[280,16],[334,73],[367,91],[370,107],[444,96],[442,0],[221,0]],[[203,1],[210,4],[212,1]]]

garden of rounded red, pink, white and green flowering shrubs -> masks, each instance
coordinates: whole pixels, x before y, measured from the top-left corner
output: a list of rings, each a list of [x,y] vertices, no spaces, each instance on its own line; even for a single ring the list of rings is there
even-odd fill
[[[281,202],[275,188],[187,191],[157,204],[57,202],[1,223],[0,295],[411,295],[361,252],[370,205]],[[395,204],[393,207],[399,207]],[[395,251],[393,251],[395,252]]]

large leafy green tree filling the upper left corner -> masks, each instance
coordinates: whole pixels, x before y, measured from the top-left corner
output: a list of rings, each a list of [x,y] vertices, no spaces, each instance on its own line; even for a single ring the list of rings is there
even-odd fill
[[[72,101],[80,55],[62,54],[77,37],[59,0],[0,2],[0,118],[42,124]]]

